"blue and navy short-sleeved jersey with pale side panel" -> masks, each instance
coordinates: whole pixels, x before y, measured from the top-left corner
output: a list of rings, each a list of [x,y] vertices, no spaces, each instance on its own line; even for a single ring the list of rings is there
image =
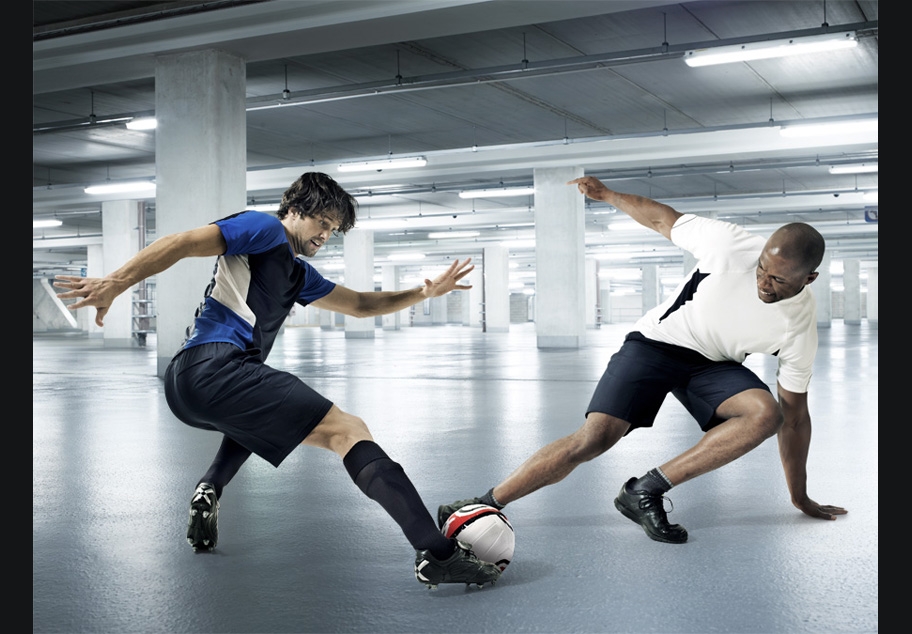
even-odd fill
[[[265,359],[294,304],[306,306],[336,285],[295,256],[275,216],[243,211],[214,224],[228,248],[181,349],[224,342]]]

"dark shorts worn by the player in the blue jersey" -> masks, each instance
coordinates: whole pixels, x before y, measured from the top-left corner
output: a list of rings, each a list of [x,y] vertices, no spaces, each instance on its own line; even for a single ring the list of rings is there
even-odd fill
[[[187,425],[220,431],[276,467],[332,407],[298,377],[230,343],[179,352],[165,370],[165,398]]]

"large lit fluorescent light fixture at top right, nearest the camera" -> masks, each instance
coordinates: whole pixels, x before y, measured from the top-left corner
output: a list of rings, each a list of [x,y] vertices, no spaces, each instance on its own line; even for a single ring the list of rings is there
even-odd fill
[[[769,40],[768,42],[749,42],[747,44],[700,48],[685,52],[684,61],[688,66],[710,66],[713,64],[749,62],[757,59],[786,57],[788,55],[835,51],[856,46],[858,46],[858,39],[855,37],[855,32],[841,31],[808,37]]]

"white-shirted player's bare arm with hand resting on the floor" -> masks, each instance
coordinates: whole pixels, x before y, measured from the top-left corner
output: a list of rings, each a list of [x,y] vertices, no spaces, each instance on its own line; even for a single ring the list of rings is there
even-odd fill
[[[834,520],[848,511],[838,506],[818,504],[807,494],[807,456],[811,445],[811,415],[807,394],[789,392],[779,386],[779,405],[785,422],[779,430],[779,457],[792,504],[811,517]]]

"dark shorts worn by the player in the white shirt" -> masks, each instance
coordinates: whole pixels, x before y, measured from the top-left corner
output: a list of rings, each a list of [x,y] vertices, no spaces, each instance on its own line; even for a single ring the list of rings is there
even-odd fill
[[[671,392],[703,431],[723,422],[715,415],[726,399],[745,390],[769,386],[735,361],[712,361],[698,352],[647,339],[632,332],[611,356],[586,410],[652,427]],[[629,433],[629,432],[628,432]]]

